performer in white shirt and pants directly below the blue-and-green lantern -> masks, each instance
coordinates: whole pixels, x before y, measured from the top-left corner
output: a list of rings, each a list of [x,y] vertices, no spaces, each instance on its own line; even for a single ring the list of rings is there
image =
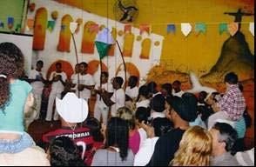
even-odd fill
[[[95,93],[99,93],[99,90],[107,90],[108,92],[113,92],[113,88],[112,88],[112,84],[108,83],[108,77],[109,74],[106,71],[103,71],[101,73],[101,87],[100,87],[100,83],[97,83],[95,85],[95,90],[93,90],[92,92]],[[103,124],[106,125],[107,124],[107,119],[108,119],[108,113],[109,113],[109,107],[104,104],[103,98],[100,97],[100,95],[97,95],[97,100],[95,103],[95,107],[94,107],[94,117],[96,119],[98,119],[98,121],[100,121],[100,117],[102,116],[102,120],[103,120]]]

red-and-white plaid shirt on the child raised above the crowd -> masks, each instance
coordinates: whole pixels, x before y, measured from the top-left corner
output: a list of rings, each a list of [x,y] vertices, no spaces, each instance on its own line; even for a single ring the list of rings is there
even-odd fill
[[[226,90],[225,95],[219,100],[218,104],[220,109],[224,111],[232,121],[237,121],[241,118],[246,110],[246,100],[239,90],[238,84],[232,84],[229,89]]]

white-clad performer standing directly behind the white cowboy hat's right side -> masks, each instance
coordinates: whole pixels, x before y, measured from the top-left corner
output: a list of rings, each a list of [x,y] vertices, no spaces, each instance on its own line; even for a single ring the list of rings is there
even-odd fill
[[[81,73],[79,75],[80,83],[77,86],[77,90],[80,91],[80,97],[84,98],[88,103],[91,97],[91,90],[94,88],[95,82],[91,74],[87,73],[88,64],[85,62],[80,63]],[[77,79],[75,81],[77,83]]]

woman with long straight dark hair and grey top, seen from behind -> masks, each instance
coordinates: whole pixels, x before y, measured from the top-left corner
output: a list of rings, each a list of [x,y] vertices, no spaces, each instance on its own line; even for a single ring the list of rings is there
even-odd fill
[[[119,117],[111,117],[104,133],[105,149],[96,151],[91,166],[132,166],[134,155],[128,149],[127,122]]]

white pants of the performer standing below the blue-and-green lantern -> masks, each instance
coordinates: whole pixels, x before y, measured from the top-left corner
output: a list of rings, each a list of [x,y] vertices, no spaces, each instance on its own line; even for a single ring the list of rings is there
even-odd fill
[[[105,107],[102,104],[98,104],[96,102],[94,107],[94,117],[98,119],[100,122],[100,117],[102,116],[103,124],[107,124],[108,120],[108,114],[109,114],[109,107]]]

